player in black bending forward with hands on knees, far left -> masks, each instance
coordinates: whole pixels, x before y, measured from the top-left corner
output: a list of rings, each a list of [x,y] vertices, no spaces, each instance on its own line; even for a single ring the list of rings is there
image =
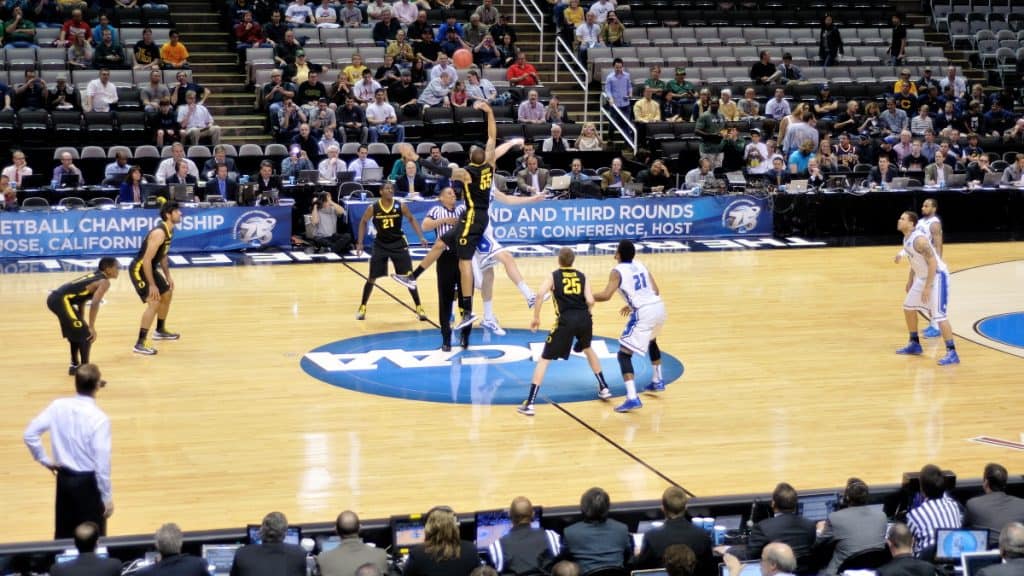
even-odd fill
[[[46,306],[60,321],[60,333],[71,343],[71,366],[68,374],[75,375],[78,367],[89,363],[89,351],[96,341],[96,315],[99,314],[99,300],[111,287],[111,280],[118,277],[120,269],[117,258],[104,256],[99,259],[96,271],[80,276],[50,292],[46,298]],[[89,308],[89,322],[82,314],[86,302],[93,300]],[[81,359],[79,359],[81,353]]]

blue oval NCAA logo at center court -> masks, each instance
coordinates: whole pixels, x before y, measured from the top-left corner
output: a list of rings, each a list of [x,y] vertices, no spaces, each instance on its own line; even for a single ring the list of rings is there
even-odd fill
[[[516,405],[529,389],[546,338],[545,331],[510,329],[494,336],[474,330],[468,351],[455,346],[441,352],[436,330],[385,332],[319,346],[302,358],[301,366],[318,380],[353,392],[446,404]],[[615,360],[617,340],[594,336],[592,347],[612,393],[626,394]],[[650,360],[634,356],[633,366],[637,384],[646,385]],[[666,383],[683,375],[682,363],[664,349],[662,375]],[[541,396],[555,402],[596,400],[597,380],[587,359],[572,354],[552,362]]]

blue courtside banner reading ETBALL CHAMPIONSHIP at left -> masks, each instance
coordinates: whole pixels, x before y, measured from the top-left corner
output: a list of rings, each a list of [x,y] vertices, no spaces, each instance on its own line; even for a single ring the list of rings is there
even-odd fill
[[[0,258],[134,254],[159,210],[0,212]],[[183,208],[172,253],[291,246],[292,208]]]

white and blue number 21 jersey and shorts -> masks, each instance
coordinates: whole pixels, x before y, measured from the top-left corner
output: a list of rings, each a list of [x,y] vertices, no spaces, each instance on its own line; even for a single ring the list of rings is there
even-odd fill
[[[644,356],[650,341],[665,326],[665,302],[662,296],[654,293],[650,273],[642,263],[620,262],[614,270],[618,273],[618,293],[633,311],[618,343],[634,354]]]

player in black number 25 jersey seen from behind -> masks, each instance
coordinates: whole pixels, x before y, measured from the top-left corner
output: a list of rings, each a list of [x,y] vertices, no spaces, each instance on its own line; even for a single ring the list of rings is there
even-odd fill
[[[567,360],[570,351],[582,352],[587,357],[590,369],[597,378],[598,398],[601,400],[611,398],[611,390],[608,389],[604,373],[601,371],[601,361],[590,347],[590,340],[594,334],[594,321],[590,316],[590,308],[594,305],[594,294],[590,291],[587,277],[572,268],[574,261],[575,252],[571,248],[565,247],[559,250],[558,270],[551,273],[537,291],[534,321],[529,323],[529,329],[537,332],[541,327],[541,306],[544,305],[544,295],[548,292],[552,293],[552,300],[555,302],[557,322],[555,328],[548,334],[547,342],[544,343],[541,360],[534,368],[529,396],[517,409],[520,414],[534,415],[534,403],[537,401],[537,393],[541,389],[541,382],[544,381],[544,374],[548,371],[548,365],[552,360]],[[572,340],[575,340],[574,346]]]

